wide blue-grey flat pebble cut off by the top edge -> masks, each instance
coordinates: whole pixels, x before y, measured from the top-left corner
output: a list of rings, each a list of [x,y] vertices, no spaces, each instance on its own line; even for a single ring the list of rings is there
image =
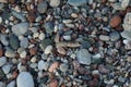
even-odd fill
[[[68,3],[73,7],[81,7],[87,3],[87,0],[68,0]]]

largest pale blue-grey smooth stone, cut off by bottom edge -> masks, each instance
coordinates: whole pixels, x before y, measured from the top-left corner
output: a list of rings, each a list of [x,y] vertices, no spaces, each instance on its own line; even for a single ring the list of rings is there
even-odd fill
[[[21,72],[16,78],[17,87],[35,87],[33,76],[28,72]]]

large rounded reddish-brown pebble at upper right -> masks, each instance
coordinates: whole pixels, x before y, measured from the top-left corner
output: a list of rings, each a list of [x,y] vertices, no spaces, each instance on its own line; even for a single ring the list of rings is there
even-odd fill
[[[121,22],[122,22],[121,17],[119,15],[115,15],[111,17],[109,25],[111,27],[117,27],[118,25],[120,25]]]

